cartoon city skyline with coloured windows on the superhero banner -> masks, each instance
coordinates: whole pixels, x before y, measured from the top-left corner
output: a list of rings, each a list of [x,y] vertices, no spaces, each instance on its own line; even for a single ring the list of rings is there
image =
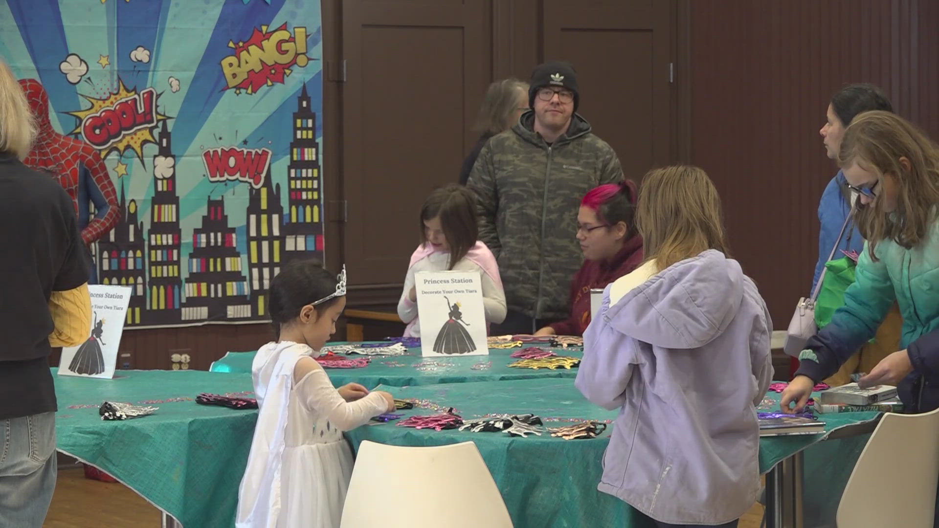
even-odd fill
[[[228,225],[224,198],[208,197],[200,225],[189,234],[192,251],[182,258],[176,156],[172,132],[162,121],[146,236],[137,202],[126,203],[122,184],[121,220],[93,246],[100,283],[133,286],[128,325],[269,318],[270,280],[281,266],[300,258],[322,260],[322,175],[306,85],[291,126],[286,210],[281,184],[271,181],[268,168],[261,187],[248,190],[245,255],[238,249],[239,229]],[[182,266],[188,266],[185,280]]]

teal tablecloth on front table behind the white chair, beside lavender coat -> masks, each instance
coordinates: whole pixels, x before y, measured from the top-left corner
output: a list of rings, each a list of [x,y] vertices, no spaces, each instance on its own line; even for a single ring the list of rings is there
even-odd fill
[[[570,380],[516,380],[456,383],[418,387],[379,387],[395,397],[433,401],[454,407],[464,418],[486,413],[532,412],[546,420],[587,418],[612,420],[616,412],[596,407],[577,392]],[[769,399],[778,400],[771,393]],[[428,414],[417,409],[410,414]],[[824,415],[826,431],[872,419],[876,412]],[[558,427],[563,422],[548,423]],[[502,492],[516,528],[579,526],[651,526],[650,520],[623,502],[596,490],[603,473],[601,459],[609,429],[593,440],[565,441],[550,436],[513,438],[504,433],[418,430],[391,424],[359,427],[346,433],[353,447],[363,440],[424,446],[473,441]],[[760,443],[761,473],[780,460],[821,442],[824,435],[764,438]],[[837,503],[837,499],[836,499]]]

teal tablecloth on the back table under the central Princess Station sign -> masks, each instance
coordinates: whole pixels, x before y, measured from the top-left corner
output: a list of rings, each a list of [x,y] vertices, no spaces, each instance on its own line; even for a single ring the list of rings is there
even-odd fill
[[[582,357],[583,352],[551,349],[558,355]],[[509,357],[518,349],[491,349],[488,356],[423,357],[421,349],[408,349],[403,356],[374,356],[363,368],[330,368],[332,383],[336,386],[350,381],[362,383],[369,389],[379,384],[393,387],[434,385],[467,381],[535,380],[542,378],[575,378],[577,369],[510,367],[516,358]],[[213,372],[251,372],[255,352],[228,352],[212,364]],[[349,357],[367,357],[350,354]]]

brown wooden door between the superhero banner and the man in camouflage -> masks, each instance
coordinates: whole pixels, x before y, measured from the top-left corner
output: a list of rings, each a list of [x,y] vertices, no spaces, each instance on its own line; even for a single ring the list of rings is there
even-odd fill
[[[455,182],[490,82],[489,3],[345,0],[342,156],[352,289],[387,299],[417,246],[424,197]]]

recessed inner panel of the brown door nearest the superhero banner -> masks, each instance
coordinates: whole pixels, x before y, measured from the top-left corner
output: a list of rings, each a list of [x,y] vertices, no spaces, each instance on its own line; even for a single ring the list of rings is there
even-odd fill
[[[368,244],[370,265],[389,268],[369,270],[371,280],[395,282],[416,245],[423,197],[453,179],[464,153],[462,28],[362,28],[362,85],[362,187],[349,193],[362,232],[349,235]]]

